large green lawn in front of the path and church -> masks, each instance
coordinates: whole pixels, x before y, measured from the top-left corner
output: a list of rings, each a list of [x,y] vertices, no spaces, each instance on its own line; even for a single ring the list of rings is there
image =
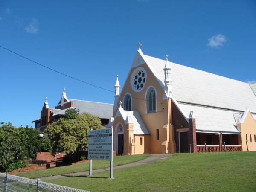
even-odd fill
[[[185,153],[155,163],[93,177],[77,176],[49,183],[89,191],[256,191],[256,152]]]

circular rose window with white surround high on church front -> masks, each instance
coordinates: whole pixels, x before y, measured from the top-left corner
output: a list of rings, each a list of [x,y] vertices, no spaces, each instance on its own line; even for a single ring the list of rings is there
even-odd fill
[[[134,70],[131,76],[131,87],[135,92],[141,91],[145,87],[147,74],[142,67]]]

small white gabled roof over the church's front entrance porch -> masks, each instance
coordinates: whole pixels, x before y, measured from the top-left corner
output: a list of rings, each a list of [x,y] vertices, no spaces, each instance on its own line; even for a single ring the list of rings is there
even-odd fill
[[[149,135],[140,113],[136,111],[125,111],[123,108],[118,108],[116,116],[122,116],[125,123],[133,123],[133,130],[135,135]]]

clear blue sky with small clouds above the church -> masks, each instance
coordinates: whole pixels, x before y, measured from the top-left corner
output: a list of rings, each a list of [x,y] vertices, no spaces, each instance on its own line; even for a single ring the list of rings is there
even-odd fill
[[[256,81],[256,1],[0,1],[0,45],[113,90],[142,42],[144,54]],[[34,126],[47,96],[113,103],[113,93],[0,48],[0,121]]]

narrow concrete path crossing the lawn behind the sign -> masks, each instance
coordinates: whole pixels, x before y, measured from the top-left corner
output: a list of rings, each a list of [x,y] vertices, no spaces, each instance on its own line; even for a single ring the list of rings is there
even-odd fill
[[[114,166],[113,169],[117,170],[117,169],[124,169],[124,168],[128,168],[128,167],[140,166],[140,165],[152,163],[152,162],[155,162],[158,160],[167,159],[170,156],[171,156],[171,154],[151,154],[146,159],[143,159],[143,160],[140,160],[140,161],[137,161],[134,163],[121,165],[121,166]],[[107,171],[109,171],[109,169],[110,169],[109,167],[105,168],[105,169],[96,169],[96,170],[93,170],[93,174],[99,173],[99,172],[107,172]],[[89,171],[68,173],[68,174],[63,174],[63,175],[54,175],[54,176],[49,176],[49,177],[42,177],[40,179],[41,180],[52,180],[52,179],[59,179],[62,177],[73,177],[73,176],[83,176],[83,175],[89,175]]]

